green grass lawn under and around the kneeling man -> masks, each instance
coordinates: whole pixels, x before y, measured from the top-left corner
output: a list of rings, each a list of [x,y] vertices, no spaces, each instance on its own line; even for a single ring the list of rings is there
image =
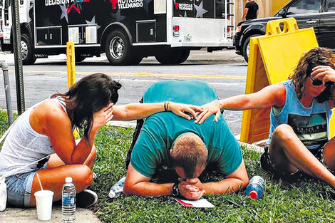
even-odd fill
[[[0,113],[0,134],[7,128],[6,113]],[[242,148],[249,178],[266,180],[262,199],[252,200],[242,190],[233,195],[206,197],[212,209],[182,207],[172,197],[125,197],[110,199],[110,187],[125,175],[125,155],[133,129],[105,126],[97,137],[98,149],[93,172],[98,178],[91,189],[99,202],[93,207],[102,222],[335,222],[335,201],[331,187],[319,180],[299,180],[289,184],[272,180],[259,166],[258,152]],[[203,175],[202,181],[218,180],[220,174]]]

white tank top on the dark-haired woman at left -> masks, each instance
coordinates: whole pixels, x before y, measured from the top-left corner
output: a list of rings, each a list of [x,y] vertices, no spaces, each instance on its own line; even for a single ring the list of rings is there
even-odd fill
[[[59,103],[66,112],[65,102],[61,100],[61,97],[51,100]],[[13,171],[11,175],[15,175],[39,170],[48,161],[48,158],[31,163],[54,153],[48,136],[37,133],[29,122],[33,108],[42,102],[31,106],[22,113],[9,131],[0,151],[0,176],[5,173],[7,175],[11,171]],[[28,166],[24,167],[25,165]]]

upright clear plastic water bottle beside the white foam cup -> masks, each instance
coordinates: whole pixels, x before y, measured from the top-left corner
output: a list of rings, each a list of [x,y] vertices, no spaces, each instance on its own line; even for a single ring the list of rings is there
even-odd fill
[[[65,178],[62,190],[62,220],[63,222],[74,222],[76,219],[76,187],[72,183],[72,177]]]

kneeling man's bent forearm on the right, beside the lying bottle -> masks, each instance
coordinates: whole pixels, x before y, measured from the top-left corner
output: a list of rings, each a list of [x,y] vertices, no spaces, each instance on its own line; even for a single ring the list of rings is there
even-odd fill
[[[225,177],[224,180],[219,182],[206,182],[202,183],[198,178],[187,179],[180,182],[181,187],[187,190],[190,187],[196,187],[200,191],[205,191],[204,195],[218,195],[218,194],[231,194],[244,187],[247,187],[249,178],[247,170],[245,170],[244,161],[231,175]]]

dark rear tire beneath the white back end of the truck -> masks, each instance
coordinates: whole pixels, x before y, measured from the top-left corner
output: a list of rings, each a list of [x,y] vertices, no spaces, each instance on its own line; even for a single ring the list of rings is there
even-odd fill
[[[156,53],[155,58],[163,65],[170,65],[185,62],[189,55],[189,49],[170,48]]]

